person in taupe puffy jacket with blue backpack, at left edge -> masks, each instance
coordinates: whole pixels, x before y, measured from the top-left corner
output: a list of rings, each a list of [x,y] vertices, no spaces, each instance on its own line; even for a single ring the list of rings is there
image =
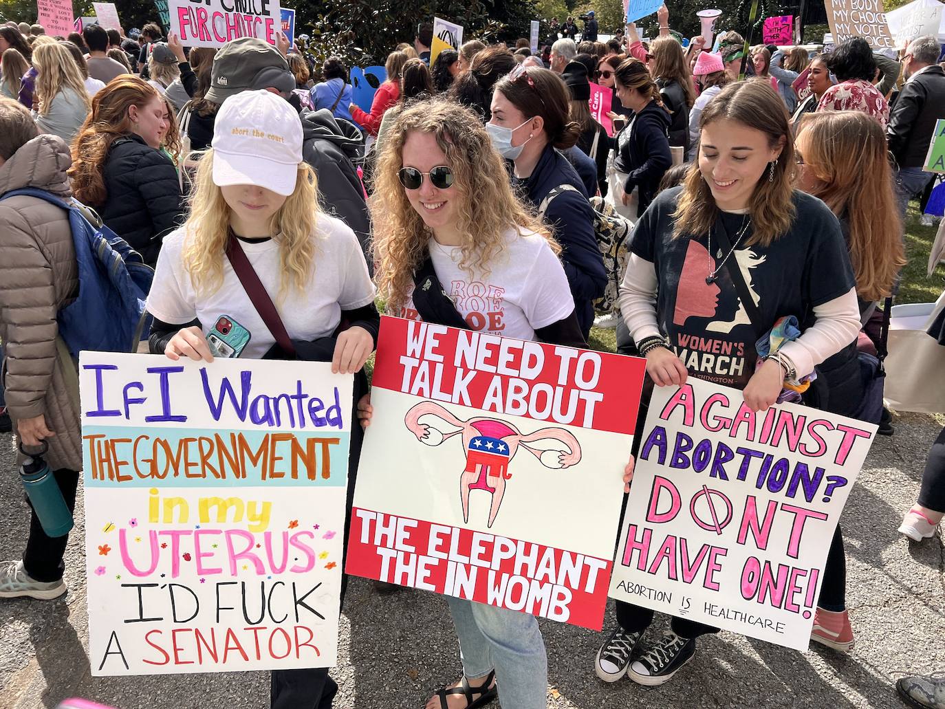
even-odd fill
[[[29,111],[0,98],[0,194],[25,187],[68,199],[69,148],[39,134]],[[68,214],[35,197],[0,201],[0,339],[7,408],[19,443],[43,454],[66,505],[76,503],[82,467],[76,362],[58,335],[56,316],[78,293]],[[68,535],[49,537],[31,513],[22,561],[0,562],[0,597],[49,599],[66,592],[62,555]]]

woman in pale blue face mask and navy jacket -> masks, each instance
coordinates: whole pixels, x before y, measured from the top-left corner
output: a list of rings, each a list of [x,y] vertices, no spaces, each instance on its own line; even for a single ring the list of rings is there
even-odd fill
[[[556,148],[573,147],[580,127],[569,119],[567,87],[548,69],[519,64],[495,85],[492,145],[512,161],[512,182],[552,225],[561,244],[564,271],[575,299],[577,321],[587,338],[593,301],[604,294],[607,271],[593,232],[593,209],[574,167]],[[557,187],[552,199],[545,201]]]

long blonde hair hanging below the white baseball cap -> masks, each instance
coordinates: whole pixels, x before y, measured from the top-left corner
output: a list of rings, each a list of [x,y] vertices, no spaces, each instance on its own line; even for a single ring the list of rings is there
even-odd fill
[[[301,292],[314,268],[321,234],[318,222],[318,182],[315,171],[299,164],[295,191],[272,217],[272,231],[278,234],[281,278],[278,301],[290,288]],[[215,293],[223,285],[223,259],[230,235],[230,206],[223,191],[214,183],[214,150],[208,149],[197,169],[190,198],[183,264],[200,295]]]

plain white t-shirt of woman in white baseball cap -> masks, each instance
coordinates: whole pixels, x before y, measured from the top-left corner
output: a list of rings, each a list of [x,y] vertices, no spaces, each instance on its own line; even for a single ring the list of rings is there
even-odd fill
[[[334,216],[320,214],[316,227],[314,268],[301,292],[288,287],[279,300],[280,273],[278,236],[260,243],[240,242],[249,263],[266,288],[285,331],[292,339],[312,340],[331,335],[342,310],[354,310],[374,300],[364,253],[352,230]],[[198,296],[184,268],[182,251],[185,228],[164,237],[154,283],[147,296],[147,311],[158,320],[174,324],[197,318],[208,334],[217,320],[226,316],[249,331],[249,343],[240,356],[259,359],[275,344],[275,337],[249,300],[223,256],[223,285],[210,295]]]

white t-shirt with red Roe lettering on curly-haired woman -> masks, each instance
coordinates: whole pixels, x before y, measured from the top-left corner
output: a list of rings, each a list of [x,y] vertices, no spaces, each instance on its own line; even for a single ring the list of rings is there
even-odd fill
[[[558,256],[540,233],[509,230],[506,239],[488,275],[475,264],[472,273],[460,270],[459,247],[432,238],[430,258],[440,285],[472,330],[534,339],[536,330],[571,315],[575,301]],[[421,319],[413,299],[401,308],[401,317]]]

